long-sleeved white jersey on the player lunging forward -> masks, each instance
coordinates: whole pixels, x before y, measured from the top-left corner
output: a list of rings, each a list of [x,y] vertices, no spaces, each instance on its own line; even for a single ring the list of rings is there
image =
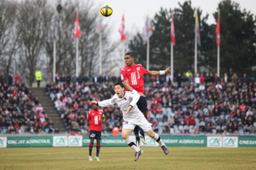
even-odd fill
[[[118,95],[115,94],[113,98],[109,100],[98,102],[98,105],[100,107],[107,107],[116,103],[123,112],[123,119],[130,119],[143,115],[143,113],[139,110],[137,106],[137,102],[139,99],[140,95],[138,93],[134,94],[131,91],[125,91],[122,98],[119,98]],[[125,114],[130,105],[133,106],[133,108],[130,110],[129,113]]]

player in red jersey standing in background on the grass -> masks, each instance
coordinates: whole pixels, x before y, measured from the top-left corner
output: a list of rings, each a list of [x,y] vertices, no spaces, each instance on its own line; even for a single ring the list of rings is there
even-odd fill
[[[92,106],[93,110],[89,111],[86,120],[86,130],[89,131],[88,122],[90,120],[90,144],[89,144],[89,160],[92,161],[92,150],[94,139],[97,140],[96,144],[96,157],[95,159],[99,161],[99,150],[100,150],[100,140],[101,140],[101,124],[105,121],[104,113],[101,109],[98,109],[97,105]]]

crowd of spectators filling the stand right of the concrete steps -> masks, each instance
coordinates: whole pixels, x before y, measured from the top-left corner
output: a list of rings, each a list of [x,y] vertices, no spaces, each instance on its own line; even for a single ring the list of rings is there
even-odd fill
[[[68,132],[88,133],[84,121],[91,107],[89,101],[112,98],[113,85],[120,77],[89,78],[86,75],[56,74],[48,82],[49,93]],[[148,121],[158,133],[172,134],[255,134],[256,82],[246,75],[219,78],[217,74],[178,74],[176,81],[166,77],[144,76]],[[122,112],[117,105],[101,108],[106,121],[104,133],[122,129]]]

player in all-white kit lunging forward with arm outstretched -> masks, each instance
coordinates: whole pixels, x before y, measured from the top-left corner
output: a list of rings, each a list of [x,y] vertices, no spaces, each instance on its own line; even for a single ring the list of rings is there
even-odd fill
[[[160,138],[160,136],[153,132],[152,127],[149,122],[147,122],[143,113],[138,109],[136,103],[138,102],[140,95],[138,93],[132,93],[130,91],[124,91],[124,86],[122,83],[116,83],[114,86],[115,95],[113,98],[109,100],[105,100],[102,102],[91,101],[90,105],[98,105],[100,107],[107,107],[113,104],[117,104],[118,107],[123,112],[123,128],[122,128],[122,138],[126,141],[126,143],[135,153],[135,161],[140,158],[140,155],[143,153],[137,145],[133,142],[133,138],[130,137],[130,133],[134,130],[135,126],[138,125],[143,129],[144,132],[155,141],[157,141],[164,154],[167,155],[169,153],[168,148],[165,146],[164,142]]]

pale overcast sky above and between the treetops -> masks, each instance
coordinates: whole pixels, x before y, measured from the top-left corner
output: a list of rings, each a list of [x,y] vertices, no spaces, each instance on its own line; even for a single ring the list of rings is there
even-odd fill
[[[109,5],[113,8],[113,14],[110,17],[104,18],[105,23],[113,25],[112,37],[115,40],[120,38],[117,32],[121,16],[124,12],[125,29],[126,31],[135,34],[137,31],[142,32],[145,23],[145,17],[149,11],[150,17],[153,18],[160,8],[178,8],[179,2],[183,4],[185,0],[99,0],[95,1],[99,8],[103,5]],[[208,23],[215,23],[212,16],[217,10],[220,0],[191,0],[191,6],[203,10],[203,16],[209,14]],[[241,9],[246,9],[254,15],[256,14],[256,0],[236,0],[240,4]],[[100,9],[99,9],[100,10]]]

